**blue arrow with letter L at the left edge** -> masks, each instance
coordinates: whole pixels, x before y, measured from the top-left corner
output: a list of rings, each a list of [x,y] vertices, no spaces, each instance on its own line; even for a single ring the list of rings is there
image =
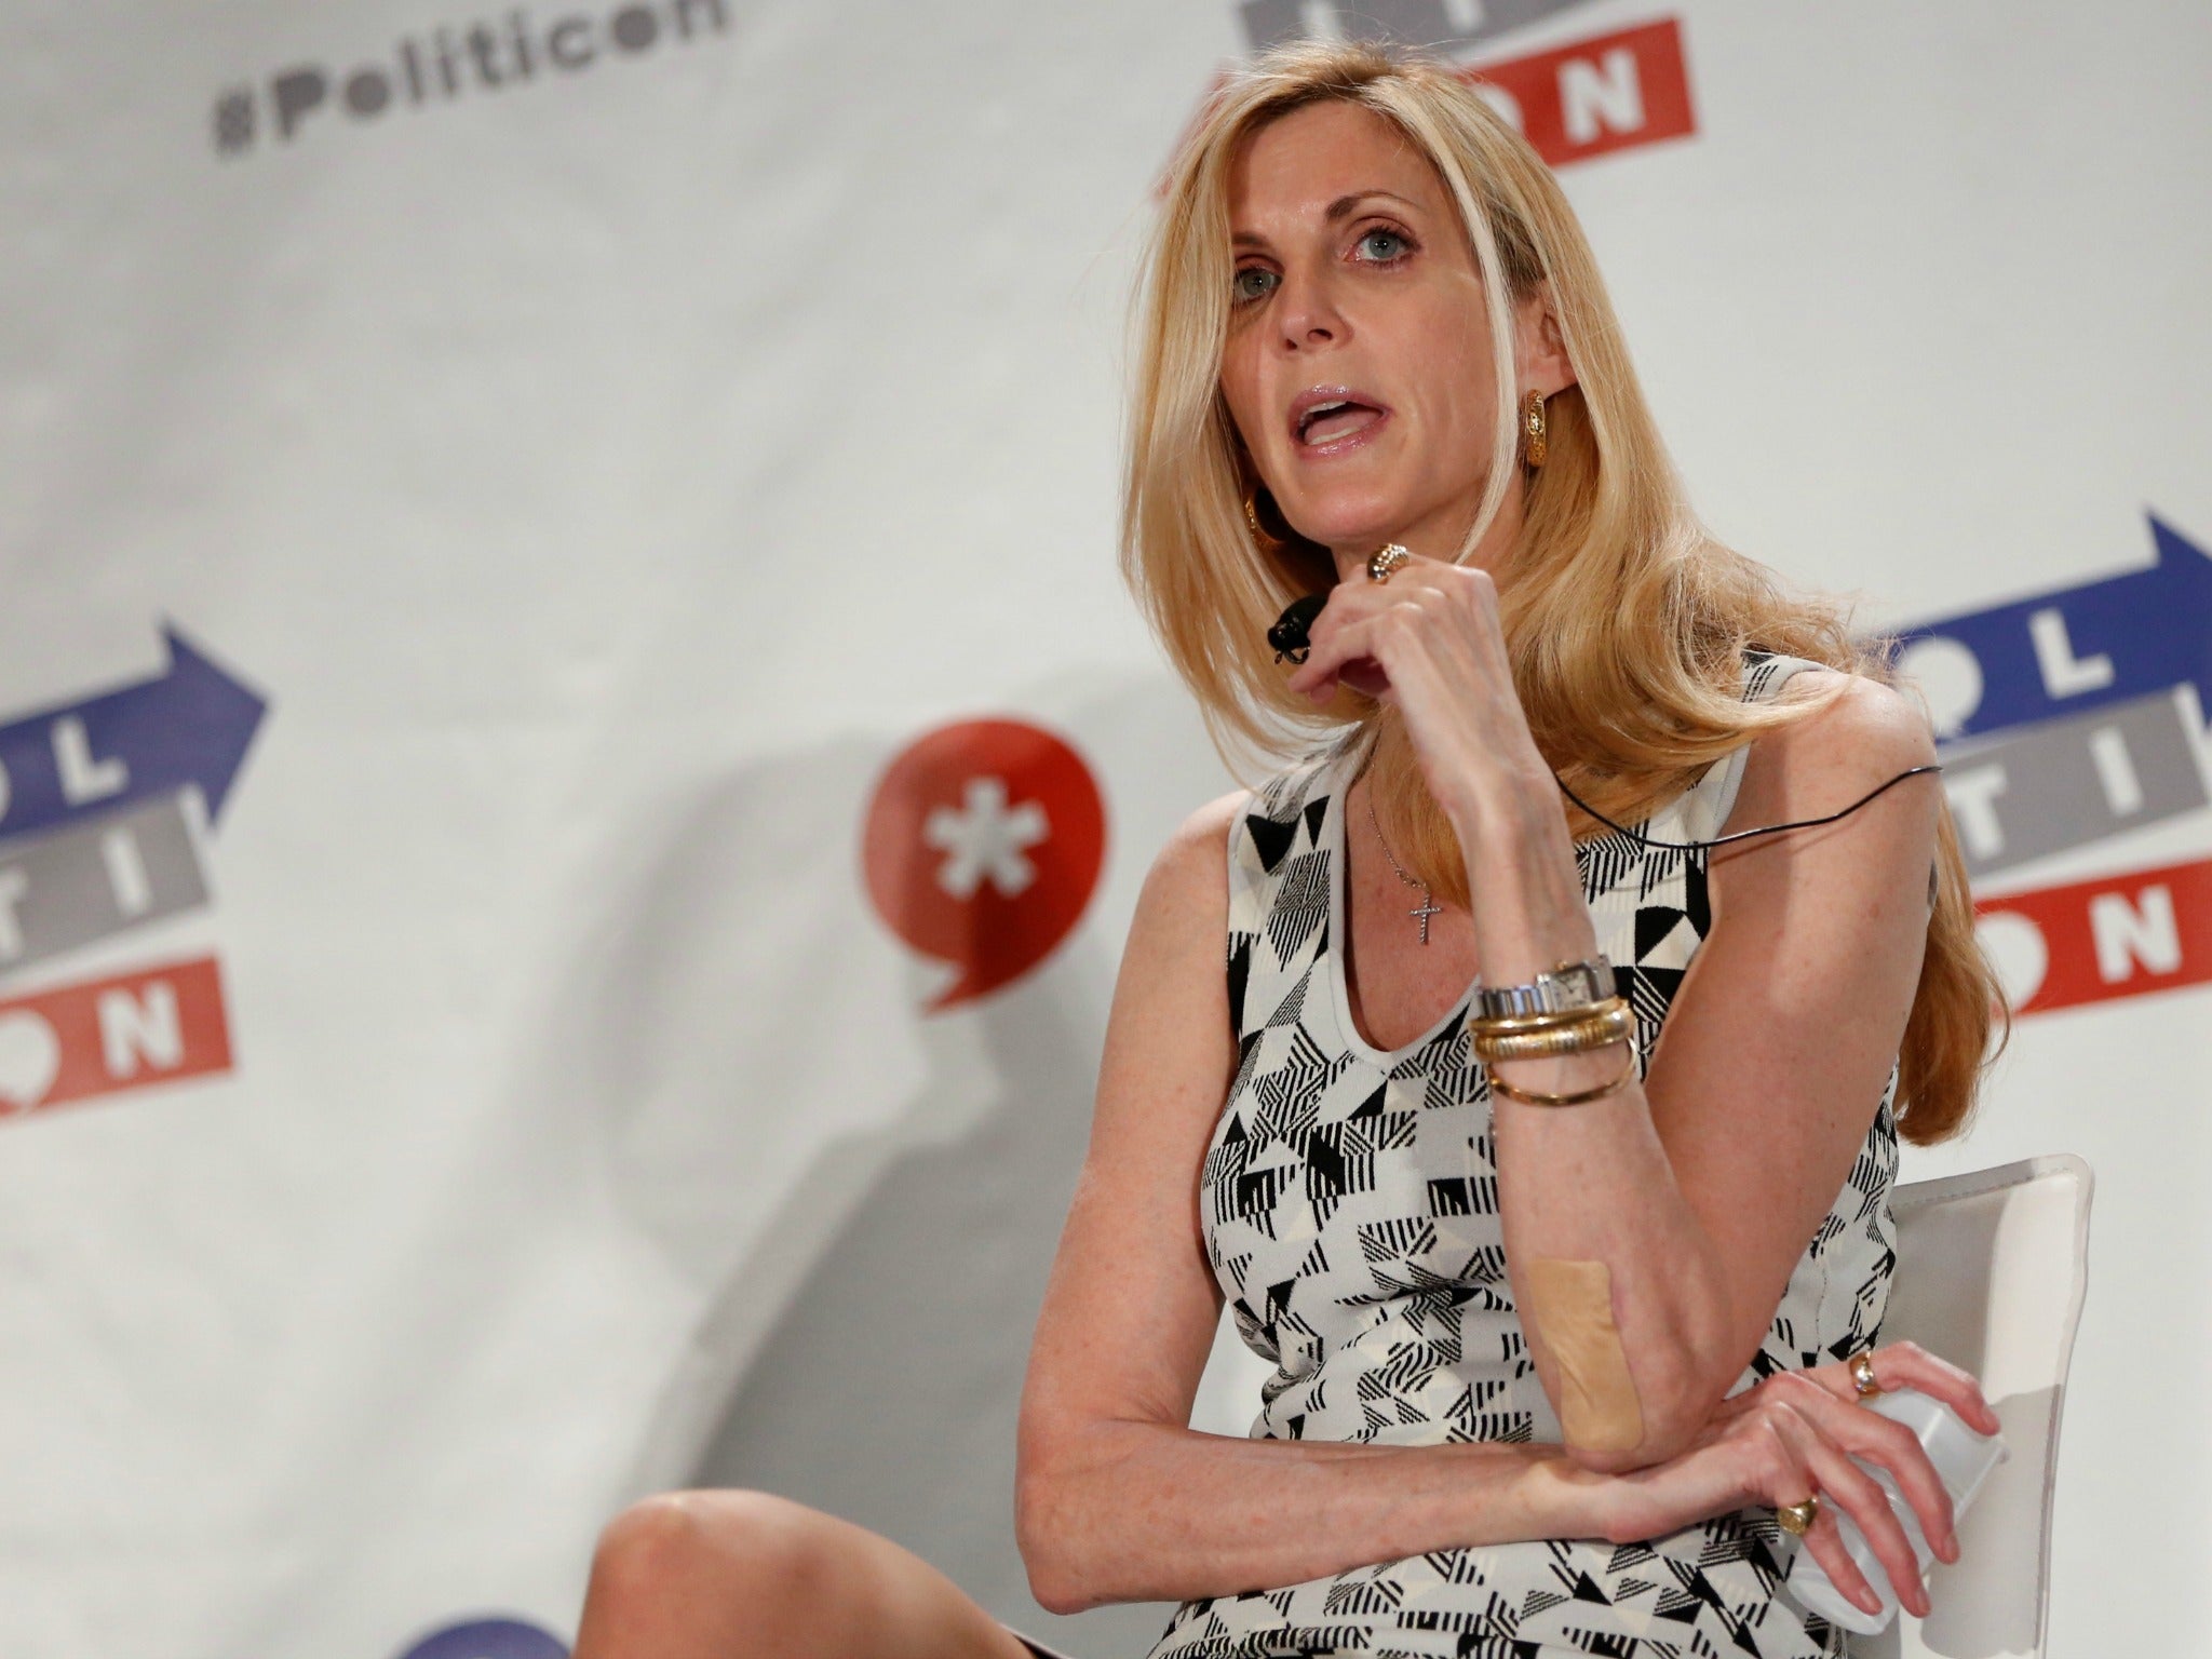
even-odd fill
[[[246,763],[268,699],[161,624],[168,672],[0,726],[0,836],[113,812],[197,783],[208,823]]]

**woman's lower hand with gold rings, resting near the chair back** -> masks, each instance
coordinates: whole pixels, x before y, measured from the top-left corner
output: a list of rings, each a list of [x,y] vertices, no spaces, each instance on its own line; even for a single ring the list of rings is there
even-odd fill
[[[1980,1383],[1949,1360],[1913,1343],[1878,1347],[1869,1358],[1885,1391],[1920,1389],[1958,1411],[1975,1433],[1997,1433],[1997,1413],[1982,1398]],[[1840,1511],[1874,1546],[1898,1601],[1927,1617],[1929,1599],[1913,1546],[1889,1509],[1889,1495],[1851,1458],[1887,1469],[1938,1559],[1958,1559],[1951,1495],[1918,1436],[1863,1409],[1851,1369],[1843,1363],[1778,1371],[1723,1400],[1681,1455],[1613,1475],[1606,1535],[1615,1542],[1659,1537],[1710,1515],[1781,1509],[1818,1493],[1820,1509],[1805,1533],[1805,1548],[1827,1568],[1834,1586],[1869,1613],[1880,1606],[1843,1548],[1836,1531]]]

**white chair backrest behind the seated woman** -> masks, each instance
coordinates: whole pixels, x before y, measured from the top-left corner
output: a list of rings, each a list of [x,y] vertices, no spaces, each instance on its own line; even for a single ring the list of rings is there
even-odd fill
[[[2088,1283],[2088,1164],[2059,1152],[1896,1190],[1898,1267],[1882,1340],[1964,1365],[2011,1458],[1929,1573],[1927,1621],[1851,1637],[1860,1659],[2042,1659],[2059,1407]]]

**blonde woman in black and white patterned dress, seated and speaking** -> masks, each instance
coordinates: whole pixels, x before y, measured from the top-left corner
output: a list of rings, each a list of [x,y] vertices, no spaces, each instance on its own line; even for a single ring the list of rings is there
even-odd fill
[[[1865,1599],[1847,1513],[1924,1613],[1854,1458],[1944,1559],[1949,1504],[1860,1398],[1997,1427],[1876,1345],[1898,1135],[1958,1130],[1997,1006],[1929,728],[1697,526],[1453,71],[1281,51],[1186,146],[1126,566],[1217,737],[1292,761],[1137,905],[1022,1409],[1040,1604],[1179,1601],[1150,1659],[1798,1659],[1843,1648],[1781,1524]],[[1274,1367],[1243,1440],[1186,1427],[1223,1303]],[[1031,1650],[761,1493],[619,1517],[577,1646]]]

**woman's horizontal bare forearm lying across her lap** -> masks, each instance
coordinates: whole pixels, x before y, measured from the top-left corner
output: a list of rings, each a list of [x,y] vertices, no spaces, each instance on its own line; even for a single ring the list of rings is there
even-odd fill
[[[1095,1422],[1060,1447],[1024,1444],[1015,1526],[1037,1601],[1075,1613],[1301,1584],[1453,1546],[1604,1537],[1606,1484],[1559,1447]]]

